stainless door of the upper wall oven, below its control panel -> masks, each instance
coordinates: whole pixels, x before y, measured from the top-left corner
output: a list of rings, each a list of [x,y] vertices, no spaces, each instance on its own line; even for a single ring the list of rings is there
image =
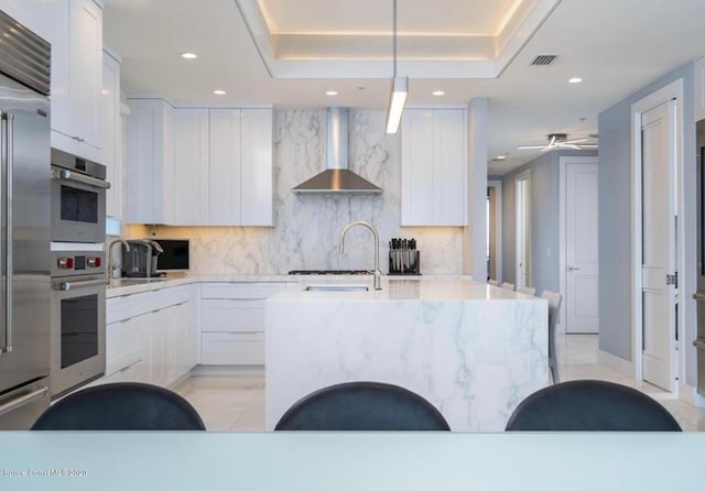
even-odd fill
[[[106,240],[106,189],[96,177],[52,166],[52,240]]]

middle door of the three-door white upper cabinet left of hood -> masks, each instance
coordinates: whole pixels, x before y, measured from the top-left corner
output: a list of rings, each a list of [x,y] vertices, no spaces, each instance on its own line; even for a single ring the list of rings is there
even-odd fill
[[[240,109],[210,109],[210,225],[240,223]]]

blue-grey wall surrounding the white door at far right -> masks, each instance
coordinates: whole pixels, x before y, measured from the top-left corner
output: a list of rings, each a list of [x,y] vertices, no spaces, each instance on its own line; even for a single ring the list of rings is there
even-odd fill
[[[683,78],[683,199],[684,212],[679,218],[684,227],[685,271],[681,277],[681,302],[685,308],[685,381],[695,384],[695,315],[691,296],[695,290],[695,127],[693,64],[621,100],[599,114],[599,348],[631,361],[631,105]]]

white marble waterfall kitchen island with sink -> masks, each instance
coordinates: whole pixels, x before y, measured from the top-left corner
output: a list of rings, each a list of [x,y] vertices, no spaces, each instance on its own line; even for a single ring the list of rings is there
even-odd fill
[[[422,395],[452,430],[501,432],[547,383],[542,298],[463,277],[384,279],[381,291],[368,279],[312,285],[265,302],[267,429],[311,392],[369,380]]]

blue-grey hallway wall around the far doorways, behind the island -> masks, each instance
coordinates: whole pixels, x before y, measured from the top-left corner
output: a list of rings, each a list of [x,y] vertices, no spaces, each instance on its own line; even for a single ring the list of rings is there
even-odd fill
[[[560,291],[558,161],[565,155],[593,156],[595,151],[553,151],[502,177],[502,281],[517,283],[514,178],[531,171],[531,286],[536,293]]]

